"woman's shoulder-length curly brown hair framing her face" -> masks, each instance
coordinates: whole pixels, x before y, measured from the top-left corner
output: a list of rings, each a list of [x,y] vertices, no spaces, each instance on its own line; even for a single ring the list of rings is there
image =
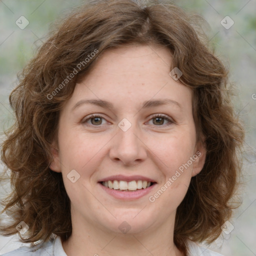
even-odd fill
[[[179,81],[193,90],[197,139],[206,146],[203,169],[191,178],[176,211],[174,243],[185,251],[187,239],[210,243],[220,235],[234,208],[244,132],[231,104],[227,70],[196,27],[180,7],[155,0],[143,5],[90,1],[55,25],[9,95],[16,120],[5,132],[1,159],[13,190],[2,212],[12,222],[1,225],[3,235],[17,233],[15,226],[23,220],[29,226],[20,237],[24,242],[46,241],[51,233],[62,240],[70,236],[70,200],[61,173],[49,168],[59,113],[104,50],[128,43],[158,44],[171,51],[170,70],[178,67],[183,73]],[[93,49],[98,53],[77,70]],[[74,69],[77,74],[63,84]]]

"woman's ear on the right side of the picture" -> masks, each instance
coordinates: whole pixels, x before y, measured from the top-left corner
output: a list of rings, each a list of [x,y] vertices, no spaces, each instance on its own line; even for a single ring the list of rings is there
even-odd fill
[[[197,158],[196,158],[197,156]],[[205,162],[206,157],[206,146],[202,141],[198,141],[195,146],[194,156],[195,159],[193,162],[193,170],[191,176],[197,175],[201,170]]]

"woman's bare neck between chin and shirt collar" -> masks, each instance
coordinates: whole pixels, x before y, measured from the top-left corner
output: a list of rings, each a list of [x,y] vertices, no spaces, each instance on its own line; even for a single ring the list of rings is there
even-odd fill
[[[112,232],[72,217],[72,234],[62,242],[67,256],[184,256],[173,243],[174,218],[140,232]],[[173,221],[171,221],[173,220]],[[81,223],[83,223],[81,225]]]

